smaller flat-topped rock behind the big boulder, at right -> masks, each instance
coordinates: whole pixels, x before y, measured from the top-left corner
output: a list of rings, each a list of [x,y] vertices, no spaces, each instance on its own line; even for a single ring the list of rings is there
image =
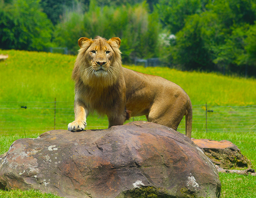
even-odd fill
[[[250,169],[250,160],[242,155],[240,149],[230,141],[208,140],[208,139],[192,139],[192,141],[202,149],[214,164],[223,169]]]

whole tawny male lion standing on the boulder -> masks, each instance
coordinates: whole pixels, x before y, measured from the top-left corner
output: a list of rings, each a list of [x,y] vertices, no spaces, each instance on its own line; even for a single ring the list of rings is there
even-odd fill
[[[187,93],[160,76],[122,67],[120,44],[118,37],[78,40],[80,50],[72,71],[75,121],[68,130],[83,130],[93,111],[107,115],[108,128],[145,115],[148,122],[177,130],[185,116],[186,135],[191,138],[192,105]]]

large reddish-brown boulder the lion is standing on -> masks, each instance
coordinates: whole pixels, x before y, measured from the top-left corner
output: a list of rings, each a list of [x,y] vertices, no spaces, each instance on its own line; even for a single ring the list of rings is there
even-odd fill
[[[201,149],[184,134],[142,121],[16,140],[0,156],[0,187],[67,198],[129,198],[150,190],[166,198],[220,197],[217,170]]]

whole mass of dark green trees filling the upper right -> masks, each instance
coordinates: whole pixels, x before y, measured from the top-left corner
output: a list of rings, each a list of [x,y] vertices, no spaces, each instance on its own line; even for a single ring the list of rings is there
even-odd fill
[[[218,0],[209,1],[202,12],[182,13],[184,25],[179,23],[170,48],[174,65],[182,70],[256,75],[255,5],[252,0]],[[173,22],[165,21],[172,31]]]

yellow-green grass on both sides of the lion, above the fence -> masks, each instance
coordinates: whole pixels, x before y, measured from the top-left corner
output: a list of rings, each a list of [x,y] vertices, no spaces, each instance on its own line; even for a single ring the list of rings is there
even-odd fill
[[[73,101],[75,56],[15,50],[0,53],[9,55],[0,62],[0,101]],[[125,67],[175,82],[189,94],[193,105],[256,105],[256,79],[164,67]]]

